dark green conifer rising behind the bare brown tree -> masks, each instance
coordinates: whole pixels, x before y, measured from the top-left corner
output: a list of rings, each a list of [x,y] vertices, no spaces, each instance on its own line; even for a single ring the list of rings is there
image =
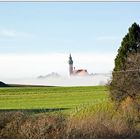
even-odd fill
[[[123,38],[115,58],[114,71],[125,70],[125,61],[131,53],[140,53],[140,27],[136,23],[132,24],[129,32]]]

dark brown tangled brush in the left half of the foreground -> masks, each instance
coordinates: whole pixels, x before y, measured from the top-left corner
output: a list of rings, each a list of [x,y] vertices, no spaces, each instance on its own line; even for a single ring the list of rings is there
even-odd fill
[[[39,116],[23,112],[1,113],[0,138],[41,139],[62,138],[64,116],[42,114]]]

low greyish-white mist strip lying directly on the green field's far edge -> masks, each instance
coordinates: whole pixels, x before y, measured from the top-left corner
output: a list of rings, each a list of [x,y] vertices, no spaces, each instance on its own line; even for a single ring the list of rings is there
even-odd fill
[[[7,84],[45,85],[45,86],[96,86],[105,85],[111,75],[92,75],[83,77],[48,77],[2,79]]]

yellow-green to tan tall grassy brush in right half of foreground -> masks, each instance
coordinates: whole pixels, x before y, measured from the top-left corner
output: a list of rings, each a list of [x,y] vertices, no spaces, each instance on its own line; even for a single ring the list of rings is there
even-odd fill
[[[115,111],[114,105],[109,102],[98,106],[88,106],[69,118],[65,138],[109,139],[139,137],[135,124],[130,124],[128,120],[129,115],[127,112]]]

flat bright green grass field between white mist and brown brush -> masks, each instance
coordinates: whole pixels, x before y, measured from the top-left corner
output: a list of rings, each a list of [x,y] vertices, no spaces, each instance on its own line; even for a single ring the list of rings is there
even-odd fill
[[[104,86],[0,88],[0,109],[70,110],[108,100]]]

